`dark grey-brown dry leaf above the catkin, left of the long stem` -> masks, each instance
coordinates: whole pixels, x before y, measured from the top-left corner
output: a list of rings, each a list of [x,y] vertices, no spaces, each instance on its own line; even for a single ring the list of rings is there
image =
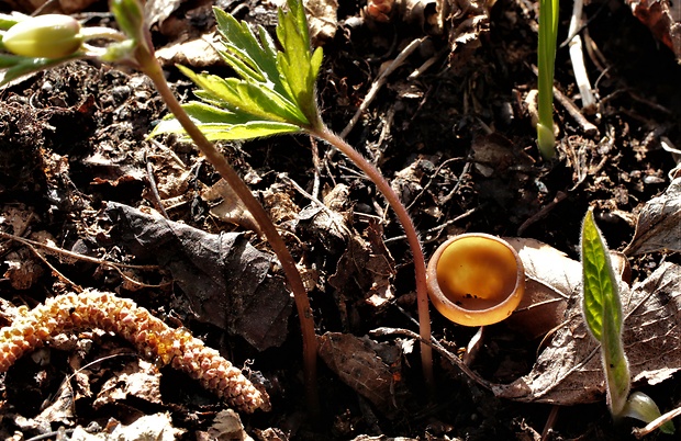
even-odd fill
[[[212,235],[114,202],[105,213],[115,225],[116,244],[168,268],[199,319],[258,350],[286,340],[291,296],[283,278],[270,272],[272,257],[244,234]]]

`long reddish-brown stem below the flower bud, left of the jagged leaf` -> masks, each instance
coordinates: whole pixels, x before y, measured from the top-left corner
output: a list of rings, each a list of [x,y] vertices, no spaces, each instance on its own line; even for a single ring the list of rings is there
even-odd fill
[[[220,176],[230,184],[232,190],[242,200],[246,208],[258,223],[260,230],[265,235],[267,241],[277,255],[283,272],[289,282],[289,287],[293,292],[300,328],[303,341],[303,370],[305,377],[305,395],[308,399],[309,410],[314,415],[319,412],[319,395],[316,388],[316,335],[314,331],[314,318],[312,308],[310,307],[310,298],[303,285],[300,272],[295,267],[295,261],[289,252],[283,239],[277,231],[277,227],[271,222],[263,205],[255,199],[250,189],[239,178],[232,168],[227,159],[222,155],[215,146],[208,140],[203,133],[191,121],[181,104],[175,98],[166,81],[163,69],[153,53],[146,49],[144,45],[139,45],[136,53],[137,63],[142,70],[154,81],[154,86],[165,101],[166,105],[172,112],[177,121],[180,122],[187,134],[194,142],[197,147],[217,170]]]

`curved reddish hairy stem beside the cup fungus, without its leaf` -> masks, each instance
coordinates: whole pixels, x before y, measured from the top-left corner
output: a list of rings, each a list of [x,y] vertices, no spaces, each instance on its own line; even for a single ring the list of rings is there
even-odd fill
[[[406,236],[406,241],[409,242],[409,247],[412,250],[412,257],[414,259],[416,302],[418,309],[418,333],[422,339],[421,364],[423,368],[423,376],[425,382],[431,392],[434,392],[435,377],[433,375],[433,349],[426,343],[427,341],[431,341],[431,314],[428,310],[428,293],[426,287],[426,265],[414,223],[412,222],[406,207],[402,204],[402,201],[400,201],[400,197],[392,190],[386,178],[383,178],[383,174],[381,174],[381,172],[371,162],[365,159],[364,156],[355,150],[355,148],[324,125],[315,125],[313,128],[309,128],[309,132],[311,135],[336,147],[367,174],[371,182],[373,182],[378,190],[383,194],[383,197],[386,197],[388,204],[390,204],[394,211],[395,216],[398,216],[398,220],[404,228],[404,235]]]

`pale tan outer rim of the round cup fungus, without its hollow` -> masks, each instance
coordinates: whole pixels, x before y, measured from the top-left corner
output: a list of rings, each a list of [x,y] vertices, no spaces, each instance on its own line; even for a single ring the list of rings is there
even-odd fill
[[[513,289],[507,294],[502,295],[503,299],[493,306],[476,309],[461,307],[447,297],[440,287],[440,279],[438,278],[437,269],[443,253],[451,244],[467,239],[494,242],[494,247],[499,246],[498,249],[500,251],[504,249],[510,251],[515,261],[515,283]],[[525,269],[517,251],[502,238],[484,233],[466,233],[443,242],[428,261],[426,279],[428,295],[435,308],[449,320],[464,326],[485,326],[502,321],[515,310],[525,292]]]

